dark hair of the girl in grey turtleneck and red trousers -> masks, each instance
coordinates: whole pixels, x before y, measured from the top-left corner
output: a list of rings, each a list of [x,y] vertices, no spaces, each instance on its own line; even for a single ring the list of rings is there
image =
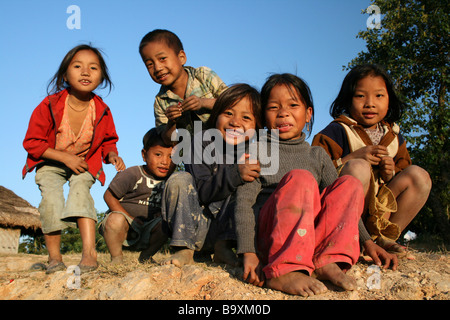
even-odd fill
[[[262,119],[264,119],[264,125],[264,112],[267,107],[270,92],[277,85],[284,85],[288,88],[289,91],[291,91],[292,86],[295,91],[297,91],[297,94],[305,104],[306,108],[312,109],[311,120],[309,122],[309,134],[311,134],[314,123],[314,103],[311,90],[309,89],[309,86],[305,82],[305,80],[291,73],[273,74],[269,78],[267,78],[266,83],[264,83],[263,87],[261,88]]]

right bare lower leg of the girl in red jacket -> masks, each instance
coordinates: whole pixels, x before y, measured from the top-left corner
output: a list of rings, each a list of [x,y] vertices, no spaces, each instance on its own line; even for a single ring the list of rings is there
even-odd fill
[[[83,250],[80,267],[97,267],[97,251],[95,250],[95,221],[90,218],[78,218]]]

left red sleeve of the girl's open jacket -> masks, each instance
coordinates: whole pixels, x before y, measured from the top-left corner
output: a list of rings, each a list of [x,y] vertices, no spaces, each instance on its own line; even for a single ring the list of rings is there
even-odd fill
[[[45,99],[33,110],[23,141],[23,147],[34,159],[41,158],[50,148],[48,136],[54,124],[47,101]]]

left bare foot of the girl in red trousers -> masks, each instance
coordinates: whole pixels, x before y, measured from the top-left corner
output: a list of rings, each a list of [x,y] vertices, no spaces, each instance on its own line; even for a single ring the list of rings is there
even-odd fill
[[[266,279],[266,286],[303,297],[321,294],[328,290],[322,282],[299,271],[293,271],[278,278]]]

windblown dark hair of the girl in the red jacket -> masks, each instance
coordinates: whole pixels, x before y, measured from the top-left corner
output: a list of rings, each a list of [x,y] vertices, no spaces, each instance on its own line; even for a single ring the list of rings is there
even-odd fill
[[[101,53],[101,50],[98,48],[94,48],[90,44],[81,44],[76,46],[75,48],[72,48],[67,54],[65,55],[64,59],[62,60],[61,64],[59,65],[58,71],[56,71],[55,75],[51,78],[48,86],[47,86],[47,94],[53,94],[58,91],[61,91],[63,89],[69,88],[70,84],[67,83],[64,80],[64,76],[66,75],[67,69],[69,68],[70,62],[72,62],[73,57],[82,50],[91,50],[94,52],[97,57],[98,61],[100,63],[101,73],[102,73],[102,81],[101,84],[103,84],[100,88],[109,88],[109,92],[111,92],[111,87],[113,86],[111,77],[109,75],[108,67],[106,66],[105,60],[103,59],[103,55]]]

